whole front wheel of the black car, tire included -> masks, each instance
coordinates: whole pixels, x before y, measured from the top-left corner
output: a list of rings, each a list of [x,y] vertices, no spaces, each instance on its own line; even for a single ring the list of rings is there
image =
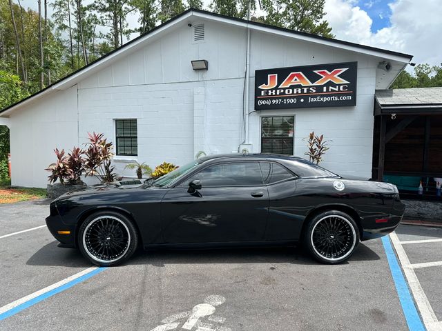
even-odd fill
[[[78,231],[81,254],[102,267],[119,265],[137,249],[137,229],[123,214],[112,211],[91,214]]]

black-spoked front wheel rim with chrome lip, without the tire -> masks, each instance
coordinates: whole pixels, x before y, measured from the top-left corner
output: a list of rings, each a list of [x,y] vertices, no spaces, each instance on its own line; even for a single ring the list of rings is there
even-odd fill
[[[99,263],[113,263],[128,252],[131,232],[121,219],[103,215],[88,223],[82,241],[90,259]]]

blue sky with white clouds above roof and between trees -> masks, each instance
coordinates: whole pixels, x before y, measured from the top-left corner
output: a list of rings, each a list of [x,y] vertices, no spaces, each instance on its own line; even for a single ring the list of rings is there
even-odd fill
[[[211,1],[203,2],[207,9]],[[37,10],[36,0],[21,0],[21,5]],[[324,9],[336,39],[412,54],[414,63],[440,66],[441,5],[441,0],[325,0]],[[135,28],[137,17],[128,17],[128,23]]]

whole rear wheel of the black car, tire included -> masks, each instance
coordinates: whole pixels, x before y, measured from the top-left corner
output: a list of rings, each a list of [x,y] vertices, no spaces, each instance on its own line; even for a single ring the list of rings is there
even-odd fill
[[[358,244],[358,225],[339,210],[316,214],[305,231],[304,245],[321,263],[342,263],[352,256]]]

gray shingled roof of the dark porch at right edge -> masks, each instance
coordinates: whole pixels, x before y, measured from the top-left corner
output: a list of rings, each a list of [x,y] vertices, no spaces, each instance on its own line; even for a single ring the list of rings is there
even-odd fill
[[[442,105],[442,87],[376,90],[374,95],[376,102],[381,107],[392,105]]]

